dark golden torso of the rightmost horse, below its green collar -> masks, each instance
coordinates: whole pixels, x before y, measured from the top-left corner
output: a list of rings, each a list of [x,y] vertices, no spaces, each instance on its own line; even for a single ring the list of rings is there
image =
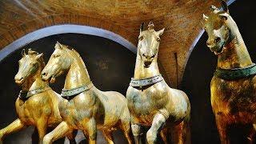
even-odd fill
[[[237,81],[214,77],[211,81],[211,105],[222,123],[256,122],[256,76]]]

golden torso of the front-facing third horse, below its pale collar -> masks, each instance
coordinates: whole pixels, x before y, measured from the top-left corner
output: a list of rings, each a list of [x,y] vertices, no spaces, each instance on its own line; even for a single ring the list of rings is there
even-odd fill
[[[145,126],[151,126],[154,115],[159,112],[166,113],[166,117],[170,117],[169,122],[181,122],[189,107],[186,94],[181,90],[171,89],[164,81],[143,91],[129,86],[127,101],[134,122]]]

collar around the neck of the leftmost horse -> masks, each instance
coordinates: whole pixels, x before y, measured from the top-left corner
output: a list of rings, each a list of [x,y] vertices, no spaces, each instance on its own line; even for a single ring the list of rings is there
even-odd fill
[[[23,100],[26,100],[26,99],[32,97],[35,94],[40,94],[40,93],[43,93],[47,90],[50,90],[49,86],[45,86],[45,87],[42,87],[42,88],[39,88],[39,89],[29,90],[29,91],[21,90],[18,94],[18,97],[23,99]]]

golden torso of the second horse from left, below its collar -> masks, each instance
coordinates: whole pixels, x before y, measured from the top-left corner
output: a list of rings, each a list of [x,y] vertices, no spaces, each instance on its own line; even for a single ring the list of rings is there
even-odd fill
[[[120,118],[129,114],[126,98],[117,92],[102,92],[95,86],[72,100],[60,103],[62,118],[74,129],[85,130],[84,123],[95,118],[98,130],[117,127]],[[117,109],[118,108],[118,109]],[[129,117],[126,119],[130,121]]]

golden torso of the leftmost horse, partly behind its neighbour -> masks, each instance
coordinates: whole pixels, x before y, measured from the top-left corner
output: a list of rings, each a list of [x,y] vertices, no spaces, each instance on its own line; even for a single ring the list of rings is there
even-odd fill
[[[30,90],[36,90],[41,86],[47,86],[47,83],[43,82],[41,78],[37,78],[30,87]],[[57,126],[62,122],[58,110],[58,103],[61,101],[60,98],[60,95],[51,89],[40,94],[35,94],[25,102],[21,98],[17,98],[15,107],[18,118],[26,123],[26,125],[36,126],[38,124],[38,119],[46,114],[48,117],[47,126]]]

